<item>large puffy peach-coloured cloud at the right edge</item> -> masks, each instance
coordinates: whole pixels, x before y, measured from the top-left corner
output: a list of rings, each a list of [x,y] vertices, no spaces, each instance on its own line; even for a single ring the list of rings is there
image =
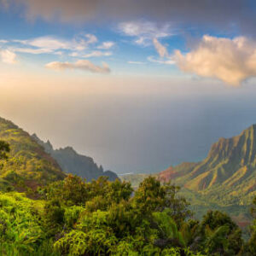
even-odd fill
[[[256,76],[256,43],[244,37],[204,36],[189,53],[176,50],[174,58],[184,72],[217,78],[231,85]]]

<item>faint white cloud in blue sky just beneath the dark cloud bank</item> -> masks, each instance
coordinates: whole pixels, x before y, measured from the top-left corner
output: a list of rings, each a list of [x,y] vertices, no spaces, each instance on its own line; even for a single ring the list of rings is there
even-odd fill
[[[172,35],[170,23],[157,24],[151,21],[130,21],[119,24],[119,31],[134,37],[136,44],[148,45],[153,38],[166,38]]]

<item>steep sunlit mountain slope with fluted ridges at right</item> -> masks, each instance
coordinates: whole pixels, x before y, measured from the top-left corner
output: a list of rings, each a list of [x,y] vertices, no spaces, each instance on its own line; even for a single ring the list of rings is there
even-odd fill
[[[170,167],[159,177],[224,206],[250,204],[256,195],[256,125],[236,137],[220,138],[200,163]]]

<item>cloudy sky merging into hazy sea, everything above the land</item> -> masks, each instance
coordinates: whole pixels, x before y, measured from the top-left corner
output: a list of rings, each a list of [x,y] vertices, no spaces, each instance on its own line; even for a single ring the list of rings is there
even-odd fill
[[[253,0],[0,0],[0,115],[114,172],[256,123]]]

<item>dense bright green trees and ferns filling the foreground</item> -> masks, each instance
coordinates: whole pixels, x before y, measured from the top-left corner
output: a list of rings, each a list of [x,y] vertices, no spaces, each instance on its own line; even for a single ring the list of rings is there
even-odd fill
[[[1,158],[9,146],[0,143]],[[1,255],[247,255],[256,253],[256,199],[248,241],[225,213],[201,222],[178,187],[146,177],[137,189],[118,179],[86,183],[69,175],[38,189],[32,200],[0,192]]]

